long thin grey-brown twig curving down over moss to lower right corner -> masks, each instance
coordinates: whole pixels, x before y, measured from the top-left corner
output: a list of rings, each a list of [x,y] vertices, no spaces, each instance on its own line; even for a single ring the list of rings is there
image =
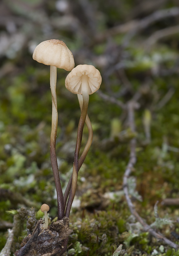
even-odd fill
[[[132,132],[135,132],[135,122],[134,122],[134,109],[136,108],[136,102],[129,102],[128,103],[128,121],[129,126],[131,128]],[[130,142],[130,158],[127,165],[127,168],[125,170],[124,176],[123,176],[123,191],[127,200],[127,204],[129,206],[129,209],[131,213],[135,216],[136,220],[140,222],[140,224],[143,226],[143,230],[145,232],[149,232],[152,236],[156,237],[157,239],[162,240],[165,244],[168,244],[169,246],[178,249],[178,244],[173,243],[169,239],[167,239],[165,236],[163,236],[160,233],[157,233],[153,228],[151,228],[148,224],[146,224],[145,220],[143,220],[138,212],[136,212],[134,205],[132,204],[129,190],[128,190],[128,178],[131,174],[131,171],[134,168],[134,164],[136,163],[136,138],[133,138]]]

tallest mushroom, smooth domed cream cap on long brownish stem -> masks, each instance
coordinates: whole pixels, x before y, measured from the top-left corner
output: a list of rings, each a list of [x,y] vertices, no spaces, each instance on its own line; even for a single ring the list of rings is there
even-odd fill
[[[58,220],[63,219],[63,193],[58,172],[58,164],[56,160],[56,134],[58,124],[57,98],[56,98],[56,68],[63,68],[70,71],[74,68],[74,58],[71,51],[65,43],[60,40],[51,39],[37,45],[33,53],[33,59],[50,65],[50,88],[52,93],[52,130],[50,135],[50,160],[55,179],[57,204],[58,204]]]

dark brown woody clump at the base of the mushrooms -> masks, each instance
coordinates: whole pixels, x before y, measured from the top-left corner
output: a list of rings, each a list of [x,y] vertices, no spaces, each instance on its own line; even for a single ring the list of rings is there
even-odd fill
[[[38,220],[32,235],[23,239],[22,248],[15,252],[16,256],[61,256],[66,251],[68,236],[73,232],[69,228],[69,218],[52,223],[46,230],[42,221]]]

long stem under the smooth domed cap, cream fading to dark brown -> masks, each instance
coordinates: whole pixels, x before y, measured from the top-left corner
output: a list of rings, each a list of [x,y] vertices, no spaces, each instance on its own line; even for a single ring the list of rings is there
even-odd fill
[[[56,98],[56,67],[50,66],[50,89],[52,93],[52,130],[50,134],[50,160],[52,165],[52,171],[55,179],[56,193],[57,193],[57,205],[58,205],[58,220],[64,217],[63,208],[63,192],[60,183],[60,177],[58,172],[58,164],[56,159],[56,133],[58,125],[58,111],[57,111],[57,98]]]

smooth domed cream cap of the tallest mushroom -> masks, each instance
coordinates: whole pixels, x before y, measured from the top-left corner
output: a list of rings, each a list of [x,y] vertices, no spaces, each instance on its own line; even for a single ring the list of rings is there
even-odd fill
[[[33,59],[45,65],[63,68],[71,71],[75,62],[72,52],[63,41],[51,39],[38,44],[33,53]]]

